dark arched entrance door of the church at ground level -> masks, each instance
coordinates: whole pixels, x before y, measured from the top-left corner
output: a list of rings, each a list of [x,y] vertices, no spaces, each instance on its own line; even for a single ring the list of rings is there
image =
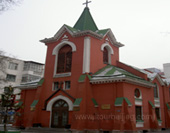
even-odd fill
[[[52,106],[51,127],[64,128],[67,124],[68,104],[63,100],[58,100]]]

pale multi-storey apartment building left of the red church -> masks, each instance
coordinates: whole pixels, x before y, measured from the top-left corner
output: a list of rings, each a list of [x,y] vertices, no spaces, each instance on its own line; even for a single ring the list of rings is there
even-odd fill
[[[44,64],[0,56],[0,89],[4,86],[18,86],[21,83],[41,79]]]

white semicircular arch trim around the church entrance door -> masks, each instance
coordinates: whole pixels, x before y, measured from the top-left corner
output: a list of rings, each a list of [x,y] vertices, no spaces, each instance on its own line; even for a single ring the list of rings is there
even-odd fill
[[[65,96],[62,96],[62,95],[59,95],[57,97],[54,97],[53,99],[51,99],[48,104],[47,104],[47,108],[46,108],[46,111],[52,111],[52,106],[53,104],[57,101],[57,100],[64,100],[67,102],[68,106],[69,106],[69,111],[73,111],[73,102],[65,97]]]

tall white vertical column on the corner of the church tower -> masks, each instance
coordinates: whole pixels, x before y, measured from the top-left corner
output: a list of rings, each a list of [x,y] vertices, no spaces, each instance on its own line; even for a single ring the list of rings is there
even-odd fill
[[[90,37],[84,38],[83,73],[90,72]]]

